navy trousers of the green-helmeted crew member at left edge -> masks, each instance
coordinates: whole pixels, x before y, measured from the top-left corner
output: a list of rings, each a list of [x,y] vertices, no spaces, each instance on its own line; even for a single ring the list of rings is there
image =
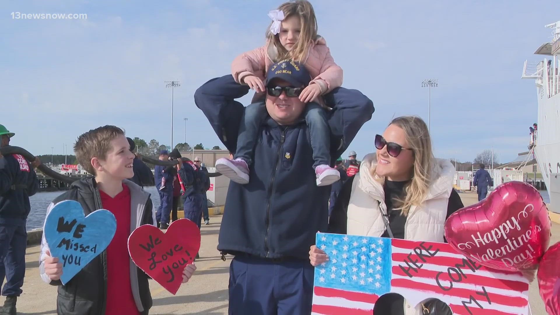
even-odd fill
[[[0,286],[2,295],[19,297],[25,276],[27,232],[23,226],[0,224]]]

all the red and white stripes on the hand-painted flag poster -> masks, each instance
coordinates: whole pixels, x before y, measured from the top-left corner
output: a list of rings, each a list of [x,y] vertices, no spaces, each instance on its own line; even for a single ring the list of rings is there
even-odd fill
[[[460,267],[465,274],[460,282],[452,282],[453,288],[449,291],[442,290],[436,282],[438,272],[444,272],[440,276],[442,285],[449,288],[450,279],[447,275],[449,267],[463,265],[464,256],[456,253],[454,249],[442,248],[440,243],[434,243],[432,248],[440,251],[434,257],[426,257],[426,263],[420,260],[413,252],[414,245],[410,241],[403,242],[393,239],[391,246],[391,293],[398,293],[407,299],[411,305],[417,305],[427,298],[438,298],[450,304],[451,310],[457,315],[470,315],[463,305],[469,302],[472,296],[482,305],[479,308],[474,302],[467,304],[473,315],[506,315],[529,313],[529,284],[519,272],[498,271],[488,267],[480,267],[474,272],[468,266]],[[424,242],[424,247],[429,248],[431,243]],[[433,252],[433,251],[432,251]],[[404,264],[408,254],[417,264],[423,264],[418,272],[410,271],[413,277],[409,277],[399,267]],[[424,252],[424,254],[426,254]],[[412,265],[412,264],[411,264]],[[454,276],[457,276],[453,273]],[[482,287],[486,289],[491,304],[483,295]],[[338,289],[329,289],[315,286],[313,293],[313,307],[311,314],[315,315],[339,315],[356,314],[371,315],[379,296],[375,294],[357,293]]]

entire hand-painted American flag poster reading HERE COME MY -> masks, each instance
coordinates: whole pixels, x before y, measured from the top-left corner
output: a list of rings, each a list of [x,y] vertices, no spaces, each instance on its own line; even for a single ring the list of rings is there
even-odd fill
[[[329,261],[315,268],[312,314],[371,315],[386,293],[410,305],[437,298],[459,315],[529,313],[519,272],[484,267],[449,244],[317,233],[316,245]]]

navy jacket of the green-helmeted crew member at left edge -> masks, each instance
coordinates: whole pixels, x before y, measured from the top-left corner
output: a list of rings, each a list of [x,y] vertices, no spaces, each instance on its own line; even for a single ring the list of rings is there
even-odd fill
[[[35,170],[18,154],[0,159],[0,224],[25,226],[31,206],[29,196],[39,189]]]

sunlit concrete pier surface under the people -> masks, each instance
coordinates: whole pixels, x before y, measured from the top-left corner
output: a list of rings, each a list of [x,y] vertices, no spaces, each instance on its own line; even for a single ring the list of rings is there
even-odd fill
[[[478,202],[476,193],[460,193],[460,196],[465,206]],[[153,298],[150,314],[227,314],[227,286],[232,257],[227,256],[227,260],[222,261],[216,249],[221,219],[221,215],[214,215],[210,217],[211,225],[202,225],[200,260],[196,262],[198,269],[192,279],[179,288],[176,295],[150,280]],[[560,224],[553,223],[550,244],[559,241]],[[39,252],[39,245],[27,248],[26,277],[22,288],[24,293],[17,301],[18,314],[56,314],[57,288],[40,279]],[[546,314],[536,280],[530,285],[529,302],[533,315]],[[3,303],[3,298],[0,298],[0,303]]]

